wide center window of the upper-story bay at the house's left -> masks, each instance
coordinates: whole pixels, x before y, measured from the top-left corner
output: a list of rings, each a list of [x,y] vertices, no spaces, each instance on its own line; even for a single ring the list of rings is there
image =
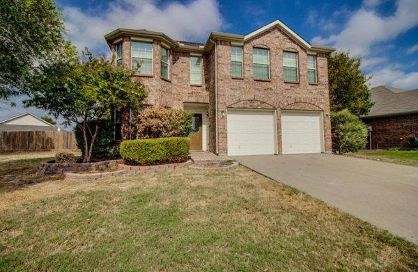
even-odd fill
[[[132,41],[132,70],[139,74],[153,74],[153,44]],[[139,66],[139,67],[138,67]]]

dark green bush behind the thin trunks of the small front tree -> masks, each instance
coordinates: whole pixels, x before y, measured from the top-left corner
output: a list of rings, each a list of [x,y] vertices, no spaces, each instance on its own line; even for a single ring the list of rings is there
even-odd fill
[[[114,143],[114,126],[111,120],[101,119],[99,120],[99,129],[98,135],[95,138],[95,143],[93,145],[93,152],[91,154],[91,159],[93,161],[103,160],[103,159],[120,159],[118,147]],[[94,127],[93,122],[91,122],[90,127]],[[75,127],[75,138],[77,140],[77,147],[82,150],[82,156],[84,157],[84,139],[83,132],[79,127]],[[91,135],[87,133],[87,142],[90,145]]]

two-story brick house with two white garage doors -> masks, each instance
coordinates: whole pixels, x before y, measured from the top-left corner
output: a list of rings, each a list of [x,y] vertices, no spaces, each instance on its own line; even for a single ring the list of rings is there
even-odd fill
[[[194,113],[192,150],[215,154],[331,152],[327,58],[276,20],[246,35],[212,32],[206,44],[116,29],[114,63],[138,70],[148,105]],[[140,63],[138,69],[137,63]],[[130,138],[130,116],[122,136]]]

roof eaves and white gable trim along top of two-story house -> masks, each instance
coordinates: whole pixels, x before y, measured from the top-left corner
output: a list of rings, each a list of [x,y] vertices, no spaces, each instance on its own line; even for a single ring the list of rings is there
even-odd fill
[[[274,27],[278,27],[279,29],[281,29],[281,31],[284,31],[284,33],[286,33],[289,37],[295,40],[295,42],[297,42],[300,46],[302,46],[307,51],[315,51],[315,52],[326,53],[326,54],[329,54],[332,51],[335,51],[335,48],[333,47],[325,47],[321,45],[309,44],[309,42],[307,42],[302,37],[300,37],[300,35],[297,35],[295,31],[291,30],[288,26],[286,26],[286,24],[281,22],[279,19],[275,20],[274,22],[271,22],[270,24],[266,24],[265,26],[262,26],[261,28],[256,29],[255,31],[247,33],[246,35],[222,33],[222,32],[211,32],[205,45],[198,43],[198,42],[176,41],[176,40],[169,38],[169,36],[165,35],[162,32],[147,31],[145,29],[116,29],[104,35],[104,38],[107,40],[107,42],[114,42],[114,40],[121,38],[121,36],[123,35],[137,35],[137,36],[141,36],[144,38],[160,39],[163,42],[167,42],[170,46],[178,50],[203,52],[203,51],[210,51],[210,49],[213,46],[213,43],[211,42],[211,40],[219,39],[219,40],[230,40],[233,42],[245,42],[247,40],[250,40],[251,38],[256,37],[257,35],[261,35],[265,31],[268,31]]]

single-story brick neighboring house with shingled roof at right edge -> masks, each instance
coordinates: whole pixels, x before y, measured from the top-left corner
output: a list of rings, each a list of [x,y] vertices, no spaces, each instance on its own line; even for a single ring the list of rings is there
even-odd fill
[[[418,136],[418,90],[379,86],[370,93],[375,104],[361,118],[371,126],[371,147],[408,147],[408,139]]]

